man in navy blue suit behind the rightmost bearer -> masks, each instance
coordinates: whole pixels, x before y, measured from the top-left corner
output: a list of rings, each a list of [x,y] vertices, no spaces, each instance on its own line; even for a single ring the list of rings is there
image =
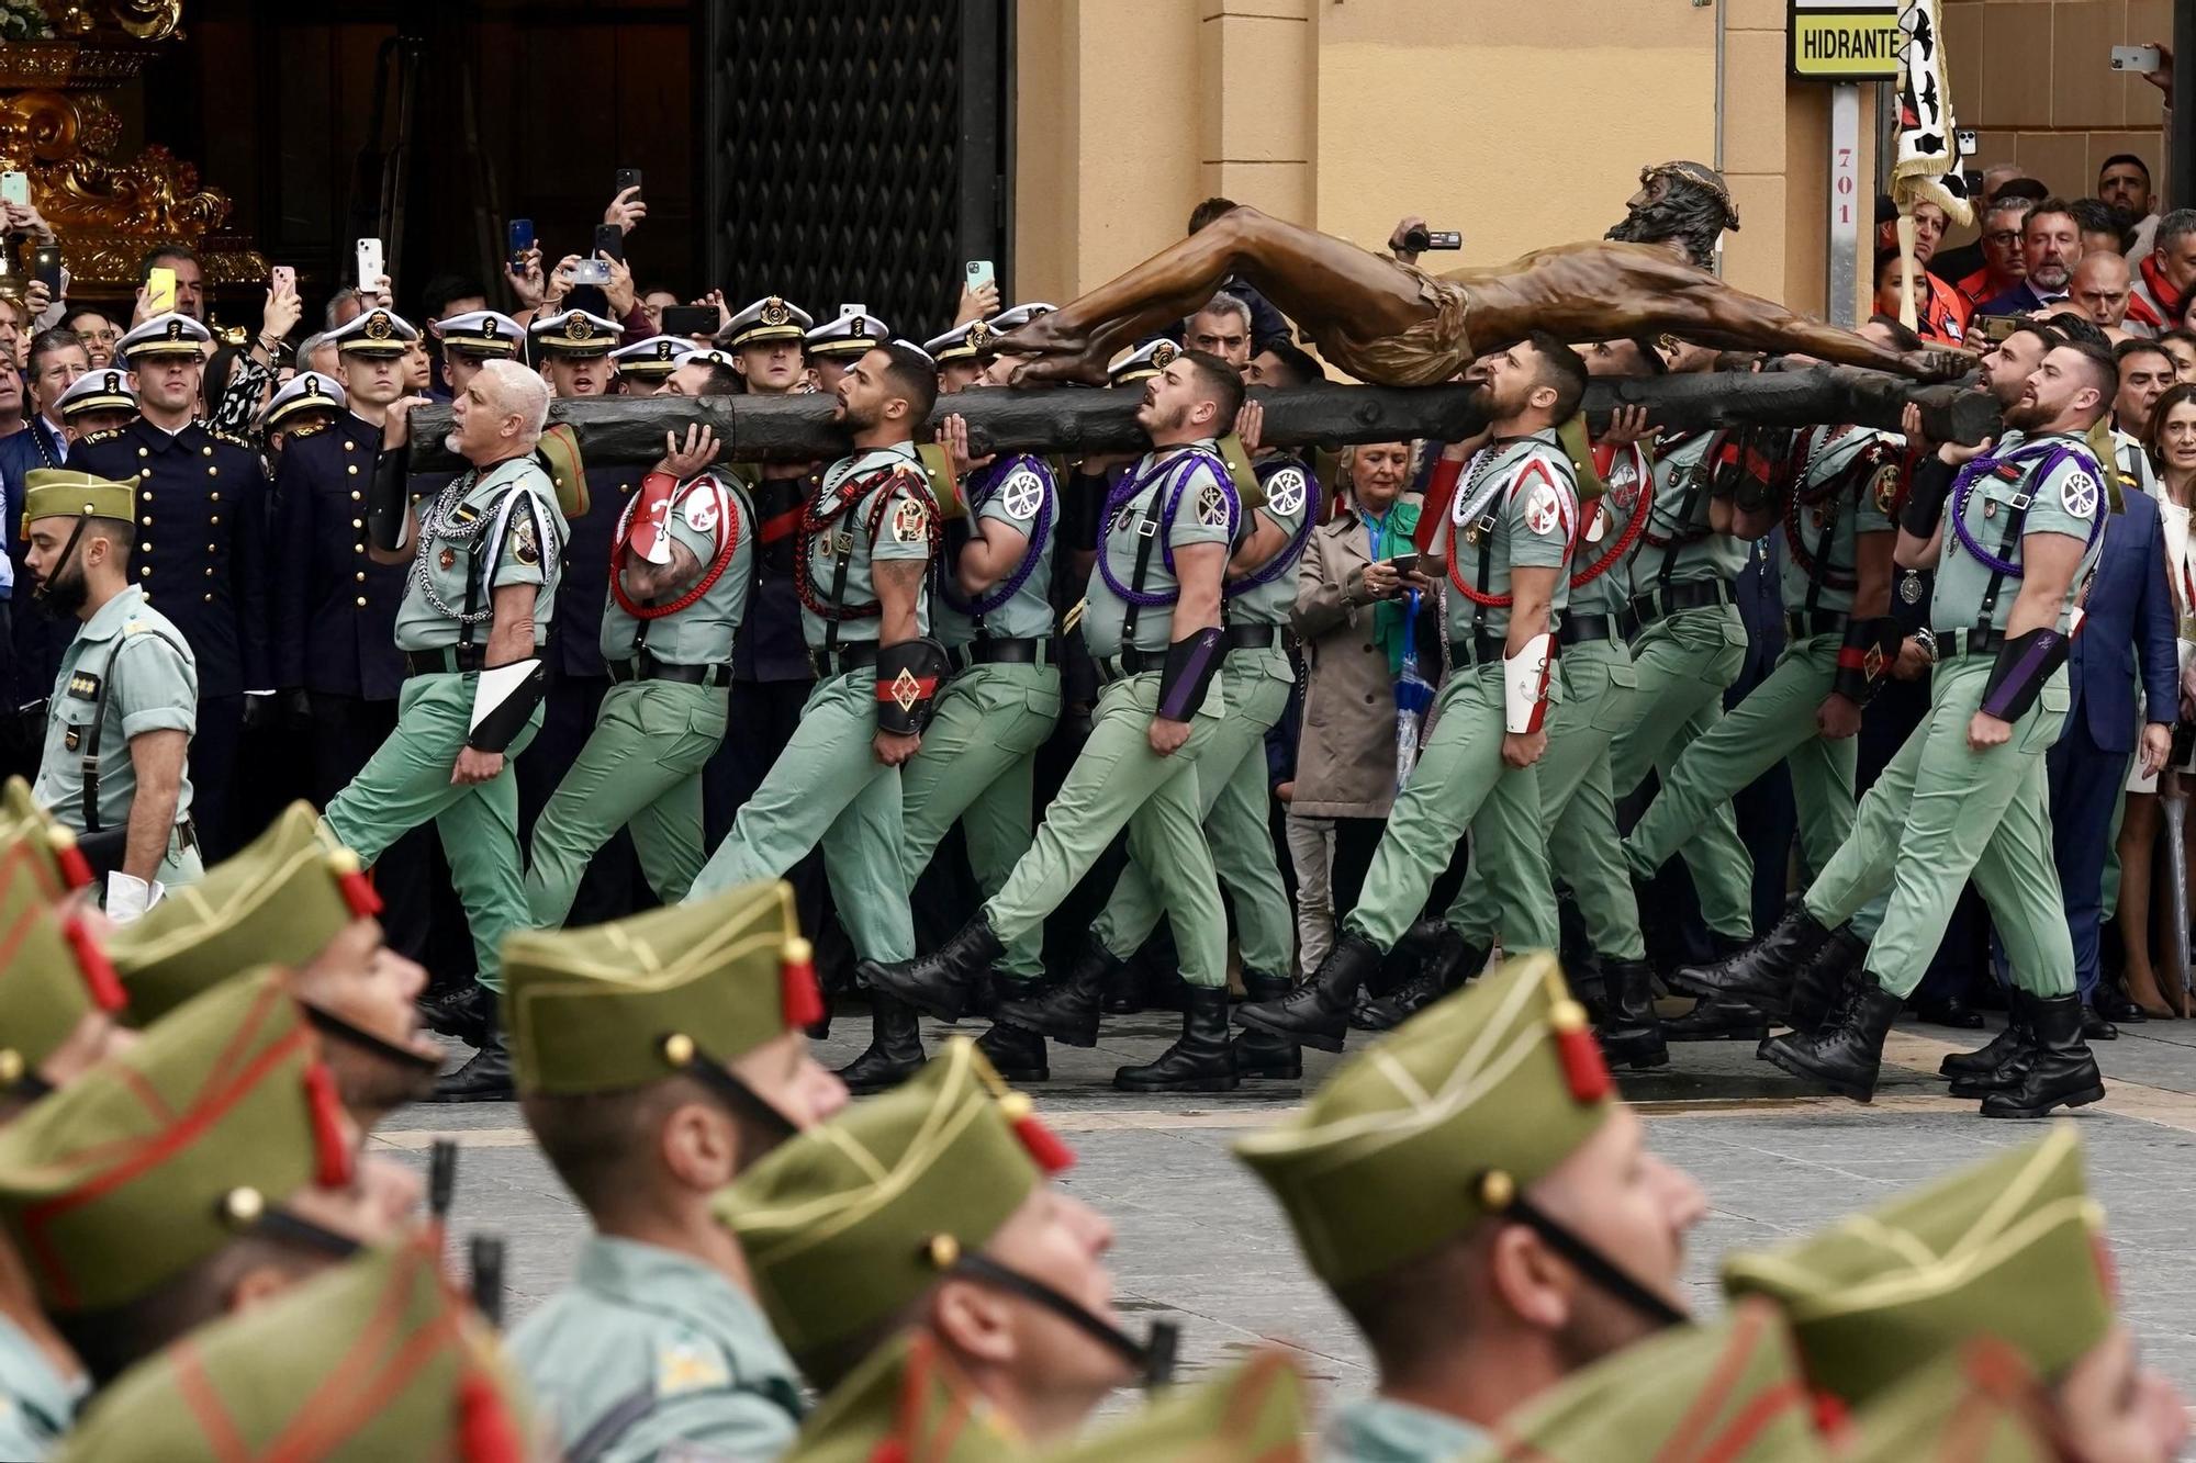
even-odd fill
[[[2104,554],[2088,587],[2088,615],[2066,655],[2073,703],[2066,729],[2044,756],[2051,780],[2051,852],[2073,931],[2075,982],[2082,991],[2084,1035],[2091,1041],[2119,1032],[2097,1013],[2097,918],[2104,905],[2104,857],[2113,844],[2113,811],[2137,751],[2135,685],[2141,677],[2141,758],[2148,771],[2165,764],[2181,672],[2174,652],[2174,598],[2165,582],[2165,540],[2159,505],[2121,474],[2121,507],[2104,527]],[[2115,1004],[2119,1008],[2124,1004]]]

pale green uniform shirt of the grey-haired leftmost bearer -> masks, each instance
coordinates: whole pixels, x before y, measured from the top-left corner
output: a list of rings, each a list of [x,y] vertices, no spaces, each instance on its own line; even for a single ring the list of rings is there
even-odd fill
[[[534,646],[545,646],[564,538],[556,485],[531,457],[459,472],[433,503],[419,503],[419,545],[397,606],[397,650],[485,644],[492,591],[505,584],[540,587]]]

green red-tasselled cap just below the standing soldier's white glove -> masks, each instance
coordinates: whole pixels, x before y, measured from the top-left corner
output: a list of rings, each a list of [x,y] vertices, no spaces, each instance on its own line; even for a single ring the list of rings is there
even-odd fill
[[[261,964],[301,967],[382,901],[310,802],[292,802],[253,844],[169,890],[108,936],[130,1017],[158,1021],[193,995]]]

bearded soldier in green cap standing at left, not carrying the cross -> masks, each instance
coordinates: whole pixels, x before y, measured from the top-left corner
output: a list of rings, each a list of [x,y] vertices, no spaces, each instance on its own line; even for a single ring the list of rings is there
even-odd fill
[[[33,468],[22,534],[40,606],[79,622],[33,795],[105,870],[108,916],[127,923],[204,872],[189,773],[198,657],[130,580],[130,483]]]

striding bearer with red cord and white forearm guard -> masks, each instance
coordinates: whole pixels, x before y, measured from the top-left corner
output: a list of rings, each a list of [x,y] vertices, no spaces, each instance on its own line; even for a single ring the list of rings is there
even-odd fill
[[[1480,358],[1467,380],[1487,409],[1491,439],[1458,468],[1449,521],[1434,538],[1447,560],[1452,663],[1434,701],[1434,732],[1394,800],[1335,949],[1287,999],[1236,1010],[1243,1026],[1326,1052],[1342,1050],[1357,989],[1425,907],[1474,819],[1489,830],[1478,861],[1502,909],[1504,945],[1526,951],[1557,940],[1535,762],[1548,749],[1542,721],[1555,685],[1553,628],[1570,598],[1579,527],[1577,479],[1555,426],[1579,411],[1586,365],[1561,340],[1537,336]]]

